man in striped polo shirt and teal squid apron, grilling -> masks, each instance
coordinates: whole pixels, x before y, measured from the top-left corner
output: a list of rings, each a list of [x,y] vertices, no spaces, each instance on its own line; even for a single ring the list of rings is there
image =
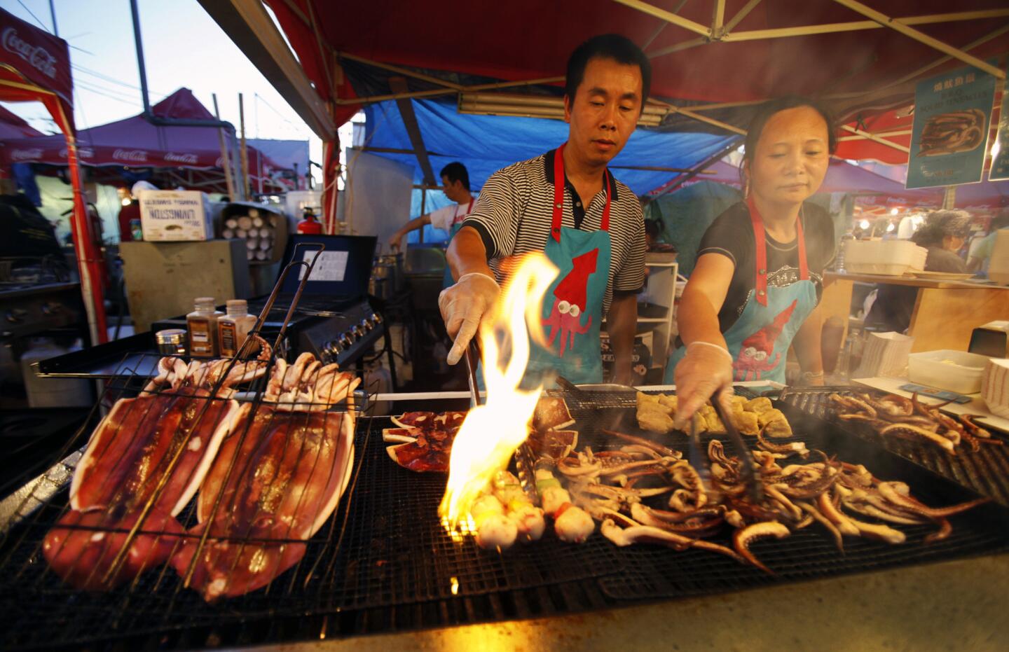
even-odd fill
[[[638,198],[606,165],[634,133],[650,85],[648,58],[624,36],[594,36],[572,52],[564,92],[567,142],[494,172],[449,245],[455,284],[438,300],[455,339],[449,364],[459,361],[497,301],[502,261],[542,251],[560,273],[544,297],[550,347],[534,347],[527,375],[601,382],[605,316],[612,380],[630,382],[645,229]]]

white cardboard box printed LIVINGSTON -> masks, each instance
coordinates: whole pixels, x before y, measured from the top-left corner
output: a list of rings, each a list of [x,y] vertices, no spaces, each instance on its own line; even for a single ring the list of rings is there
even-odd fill
[[[143,190],[140,227],[149,242],[214,239],[210,200],[199,190]]]

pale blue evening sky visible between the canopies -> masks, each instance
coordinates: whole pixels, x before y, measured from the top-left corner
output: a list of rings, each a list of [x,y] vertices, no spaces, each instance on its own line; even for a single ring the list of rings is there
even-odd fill
[[[140,76],[129,0],[52,0],[59,35],[70,44],[78,129],[140,113]],[[0,7],[52,32],[49,0],[0,0]],[[309,140],[320,161],[322,142],[197,0],[139,0],[147,88],[153,105],[181,87],[238,128],[244,94],[248,138]],[[44,133],[58,130],[38,103],[4,103]]]

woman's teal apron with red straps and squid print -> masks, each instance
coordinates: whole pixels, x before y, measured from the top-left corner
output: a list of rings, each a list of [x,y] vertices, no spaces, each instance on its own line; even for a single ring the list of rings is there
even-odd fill
[[[747,380],[785,382],[785,358],[792,338],[802,322],[816,307],[816,286],[809,280],[806,263],[806,241],[802,235],[802,220],[796,220],[795,231],[799,254],[799,280],[788,287],[767,286],[767,244],[764,220],[754,204],[748,202],[756,244],[757,287],[747,299],[740,318],[723,335],[732,354],[733,376],[737,382]],[[669,357],[666,383],[672,384],[673,370],[686,355],[680,347]]]

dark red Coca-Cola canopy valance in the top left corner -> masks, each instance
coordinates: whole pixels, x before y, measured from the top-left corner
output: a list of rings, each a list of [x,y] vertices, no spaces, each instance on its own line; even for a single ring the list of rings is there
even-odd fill
[[[21,81],[52,91],[72,107],[69,51],[64,39],[0,9],[0,67],[13,69]],[[10,79],[9,74],[4,77]]]

